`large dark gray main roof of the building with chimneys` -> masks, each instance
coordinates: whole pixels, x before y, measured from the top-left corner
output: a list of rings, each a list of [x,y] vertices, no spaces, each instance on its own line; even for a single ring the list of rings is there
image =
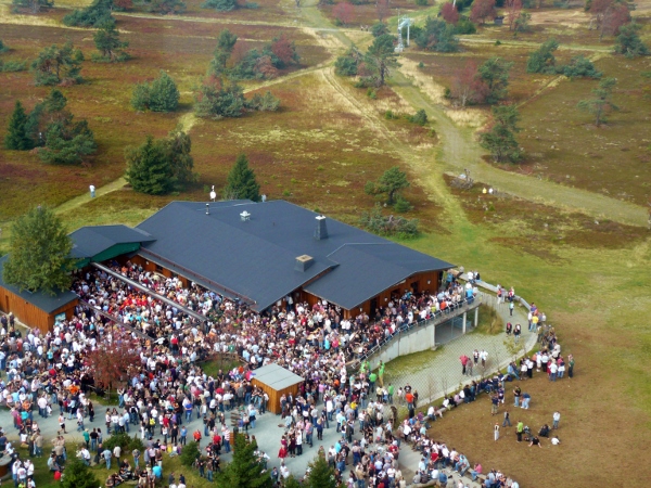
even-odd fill
[[[240,217],[244,210],[251,214],[247,221]],[[233,291],[256,310],[328,270],[306,290],[350,308],[416,272],[452,266],[332,219],[328,239],[317,241],[317,216],[284,201],[210,203],[209,215],[205,203],[173,202],[138,226],[155,237],[141,253]],[[297,271],[296,258],[303,255],[314,262]]]

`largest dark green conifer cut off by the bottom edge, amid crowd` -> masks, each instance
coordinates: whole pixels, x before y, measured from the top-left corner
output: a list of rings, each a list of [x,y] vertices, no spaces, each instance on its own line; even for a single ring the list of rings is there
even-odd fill
[[[235,434],[233,460],[217,475],[217,488],[271,488],[269,472],[257,460],[257,446],[246,444],[242,434]]]

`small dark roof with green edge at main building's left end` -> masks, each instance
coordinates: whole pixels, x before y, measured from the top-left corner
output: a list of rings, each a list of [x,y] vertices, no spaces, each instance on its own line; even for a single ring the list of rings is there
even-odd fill
[[[116,244],[143,243],[154,240],[150,234],[127,226],[82,227],[73,232],[72,257],[91,258]]]

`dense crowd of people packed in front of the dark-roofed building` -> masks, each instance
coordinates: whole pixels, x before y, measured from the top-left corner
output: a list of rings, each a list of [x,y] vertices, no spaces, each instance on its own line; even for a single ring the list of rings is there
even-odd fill
[[[0,369],[8,373],[7,382],[0,382],[2,402],[11,409],[21,439],[41,455],[42,436],[34,419],[35,409],[41,418],[55,415],[54,410],[59,409],[60,434],[67,433],[66,421],[73,421],[78,432],[89,436],[87,449],[80,450],[81,459],[103,460],[108,467],[111,459],[117,458],[120,471],[106,480],[107,486],[117,486],[128,478],[151,486],[159,478],[156,467],[162,468],[163,453],[179,454],[188,437],[209,439],[206,455],[196,467],[212,479],[214,471],[219,468],[221,449],[230,451],[232,433],[227,425],[227,412],[238,408],[243,412],[238,426],[245,432],[254,428],[257,416],[265,413],[269,398],[251,380],[255,369],[271,362],[305,378],[295,398],[281,399],[285,431],[278,453],[280,479],[289,476],[284,459],[302,455],[304,446],[314,446],[315,434],[317,442],[321,440],[323,429],[331,428],[331,423],[341,433],[341,439],[327,451],[319,449],[335,467],[337,480],[404,486],[397,467],[403,440],[426,454],[426,468],[419,472],[421,478],[432,478],[433,466],[441,457],[446,458],[446,451],[444,445],[427,439],[427,421],[434,421],[446,409],[473,401],[481,391],[496,394],[498,398],[501,395],[503,400],[506,378],[499,375],[469,382],[456,395],[447,396],[439,409],[434,408],[426,415],[417,414],[418,391],[407,386],[398,389],[398,398],[411,407],[409,419],[397,428],[393,424],[397,415],[391,411],[393,385],[385,386],[382,374],[378,377],[362,360],[368,351],[405,326],[472,297],[476,294],[474,282],[461,285],[448,275],[444,291],[421,294],[405,291],[403,296],[393,297],[386,307],[379,308],[374,317],[360,313],[348,319],[333,304],[318,301],[310,306],[295,303],[292,296],[258,313],[244,303],[225,298],[195,283],[184,286],[179,278],[164,278],[128,261],[122,266],[114,262],[111,268],[151,293],[101,270],[78,271],[73,291],[85,304],[76,308],[75,316],[58,322],[52,332],[43,335],[33,330],[24,338],[3,318],[0,351]],[[187,309],[194,313],[188,313]],[[565,361],[553,330],[539,338],[545,347],[533,358],[534,362],[549,370],[550,378],[556,365],[554,378],[563,377]],[[107,386],[95,380],[89,358],[94,350],[115,341],[128,342],[139,355],[140,363],[128,370],[129,381],[118,390],[117,408],[105,414],[105,434],[139,432],[146,446],[142,453],[146,470],[139,465],[136,453],[130,464],[114,451],[102,450],[101,429],[88,433],[84,424],[85,419],[94,418],[89,391],[101,394]],[[241,365],[207,375],[199,360],[214,352],[237,355]],[[486,358],[486,351],[465,357],[464,372],[470,370],[471,374],[472,364],[478,361],[485,364]],[[360,359],[359,372],[349,374],[347,364]],[[569,362],[572,376],[573,361]],[[519,377],[522,371],[512,364],[508,376],[513,373]],[[190,434],[184,427],[183,423],[193,415],[203,421],[203,433]],[[63,444],[61,449],[56,442],[54,446],[55,452],[48,464],[52,472],[60,473],[65,448]],[[434,452],[436,458],[432,458]],[[259,458],[266,462],[269,455],[259,452]],[[457,464],[459,460],[452,455],[450,462]]]

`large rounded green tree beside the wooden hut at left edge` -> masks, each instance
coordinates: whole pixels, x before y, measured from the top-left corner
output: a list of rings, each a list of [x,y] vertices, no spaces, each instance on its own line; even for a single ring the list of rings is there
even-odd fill
[[[61,219],[50,208],[35,207],[12,226],[2,278],[21,291],[54,295],[71,285],[72,249]]]

